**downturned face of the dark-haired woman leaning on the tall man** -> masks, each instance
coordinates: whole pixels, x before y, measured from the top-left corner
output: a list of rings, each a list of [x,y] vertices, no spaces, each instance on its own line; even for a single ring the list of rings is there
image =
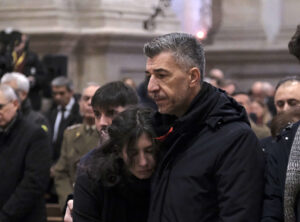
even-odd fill
[[[154,145],[147,134],[143,133],[138,138],[135,148],[128,150],[128,148],[124,147],[122,156],[129,171],[135,177],[139,179],[148,179],[151,177],[156,161],[154,158]],[[132,158],[132,163],[130,163],[129,156]]]

